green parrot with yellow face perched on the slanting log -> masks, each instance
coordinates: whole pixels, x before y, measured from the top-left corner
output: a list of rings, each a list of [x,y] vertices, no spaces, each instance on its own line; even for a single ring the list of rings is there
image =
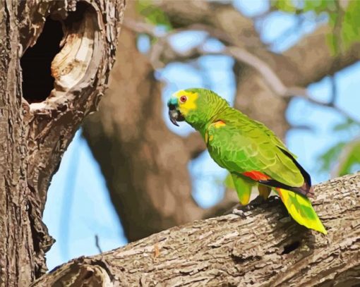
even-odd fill
[[[186,121],[200,132],[212,159],[232,175],[241,205],[248,204],[253,185],[265,200],[275,190],[295,221],[327,234],[308,199],[313,197],[309,174],[263,123],[200,88],[175,92],[167,106],[174,125]]]

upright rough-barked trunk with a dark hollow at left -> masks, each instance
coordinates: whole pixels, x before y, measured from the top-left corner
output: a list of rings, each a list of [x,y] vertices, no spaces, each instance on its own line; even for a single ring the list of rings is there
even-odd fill
[[[104,93],[124,5],[0,1],[0,286],[28,286],[47,270],[47,188]]]

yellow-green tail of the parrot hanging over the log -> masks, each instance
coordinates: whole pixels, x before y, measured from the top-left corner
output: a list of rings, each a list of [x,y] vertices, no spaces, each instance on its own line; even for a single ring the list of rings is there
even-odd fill
[[[307,197],[282,188],[276,188],[276,191],[295,221],[307,228],[328,234]]]

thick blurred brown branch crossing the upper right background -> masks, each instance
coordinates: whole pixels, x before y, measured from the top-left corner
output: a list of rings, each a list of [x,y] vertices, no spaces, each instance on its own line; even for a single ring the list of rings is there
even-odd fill
[[[253,54],[272,67],[287,87],[305,87],[360,59],[360,43],[354,43],[342,54],[332,54],[326,39],[332,32],[328,25],[322,25],[315,32],[303,37],[299,44],[279,55],[268,51],[261,42],[253,21],[236,11],[232,4],[186,1],[184,5],[182,1],[162,0],[155,1],[155,5],[167,13],[174,28],[203,23],[227,35],[232,45],[251,49]],[[215,10],[217,13],[212,13]],[[336,66],[333,65],[335,61],[338,63]]]

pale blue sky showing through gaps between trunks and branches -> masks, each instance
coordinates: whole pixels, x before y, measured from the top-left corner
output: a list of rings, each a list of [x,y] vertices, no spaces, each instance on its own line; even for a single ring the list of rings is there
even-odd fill
[[[246,16],[254,16],[264,11],[267,3],[267,1],[247,0],[235,1],[234,5]],[[293,16],[275,13],[275,16],[260,23],[265,28],[261,37],[264,42],[272,42],[284,29],[292,27],[294,23],[296,20]],[[284,51],[296,43],[301,35],[311,32],[314,28],[313,20],[305,21],[298,33],[291,35],[286,41],[273,44],[272,50]],[[201,34],[183,33],[174,37],[172,42],[176,49],[184,49],[194,44],[200,37]],[[146,43],[141,45],[145,47]],[[221,44],[210,40],[207,47],[221,49]],[[208,87],[229,102],[233,102],[235,87],[234,78],[230,73],[232,61],[227,56],[206,56],[191,66],[172,63],[162,71],[158,71],[157,78],[166,83],[162,94],[164,101],[172,92],[180,88]],[[360,120],[359,78],[360,63],[336,75],[340,94],[337,104]],[[330,94],[330,79],[325,78],[308,88],[314,98],[326,101]],[[292,100],[287,118],[290,123],[308,124],[313,127],[313,131],[290,130],[287,134],[287,145],[299,156],[300,163],[311,173],[314,183],[325,181],[330,175],[319,172],[318,156],[340,139],[351,140],[356,134],[335,134],[332,127],[335,123],[344,120],[342,116],[332,109],[309,104],[304,99]],[[186,123],[181,123],[180,128],[172,126],[167,120],[165,104],[164,121],[174,133],[188,135],[193,131]],[[221,199],[223,188],[219,182],[226,176],[226,172],[213,163],[207,153],[192,161],[189,170],[193,176],[193,195],[200,206],[210,207]],[[103,251],[126,244],[126,238],[109,200],[100,168],[93,159],[87,143],[81,138],[80,131],[76,133],[64,154],[59,171],[52,179],[44,210],[44,222],[49,228],[49,233],[56,239],[56,243],[47,253],[49,269],[73,257],[97,254],[95,235],[99,236]]]

